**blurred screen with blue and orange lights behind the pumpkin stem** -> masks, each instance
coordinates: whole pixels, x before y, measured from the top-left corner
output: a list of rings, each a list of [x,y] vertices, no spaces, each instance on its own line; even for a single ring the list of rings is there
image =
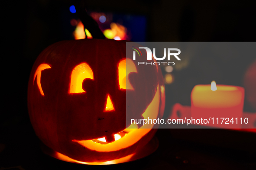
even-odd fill
[[[75,12],[75,6],[70,6],[70,12]],[[146,40],[146,16],[117,14],[110,12],[87,12],[97,22],[100,30],[108,39],[129,40],[135,42],[143,42]],[[84,30],[82,29],[82,26],[84,25],[82,22],[80,22],[80,19],[77,18],[77,16],[72,15],[69,22],[69,27],[65,26],[65,28],[69,28],[71,30],[73,29],[71,36],[73,36],[74,39],[82,39],[85,38],[86,35],[87,38],[92,38],[88,30],[85,30],[85,34],[82,32],[82,30]]]

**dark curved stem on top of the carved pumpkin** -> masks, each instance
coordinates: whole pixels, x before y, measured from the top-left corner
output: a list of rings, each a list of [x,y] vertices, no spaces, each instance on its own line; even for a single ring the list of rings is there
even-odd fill
[[[106,39],[104,34],[101,32],[98,23],[88,15],[85,8],[85,0],[75,0],[75,8],[77,9],[81,22],[84,24],[84,29],[88,29],[93,38]],[[86,34],[85,38],[87,38]]]

